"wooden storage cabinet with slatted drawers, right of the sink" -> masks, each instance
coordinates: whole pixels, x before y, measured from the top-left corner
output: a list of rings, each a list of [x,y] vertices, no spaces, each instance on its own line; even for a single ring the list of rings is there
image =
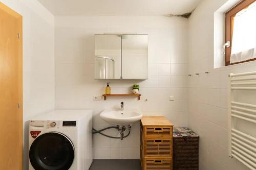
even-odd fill
[[[173,166],[173,124],[164,116],[143,116],[140,127],[143,170],[170,170]]]

